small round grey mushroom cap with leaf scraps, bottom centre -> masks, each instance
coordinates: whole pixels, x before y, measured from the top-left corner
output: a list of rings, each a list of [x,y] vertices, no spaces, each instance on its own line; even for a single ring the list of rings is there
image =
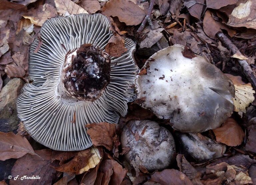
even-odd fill
[[[121,145],[129,147],[125,159],[134,167],[144,166],[149,171],[168,167],[175,156],[172,134],[150,120],[131,120],[121,133]]]

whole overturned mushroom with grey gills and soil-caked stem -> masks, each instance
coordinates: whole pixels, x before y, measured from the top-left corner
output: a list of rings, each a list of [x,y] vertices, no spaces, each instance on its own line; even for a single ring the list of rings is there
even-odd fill
[[[92,145],[85,124],[117,123],[135,99],[135,44],[110,57],[104,48],[113,35],[102,14],[79,14],[46,21],[30,47],[29,76],[17,100],[18,117],[28,133],[54,150]]]

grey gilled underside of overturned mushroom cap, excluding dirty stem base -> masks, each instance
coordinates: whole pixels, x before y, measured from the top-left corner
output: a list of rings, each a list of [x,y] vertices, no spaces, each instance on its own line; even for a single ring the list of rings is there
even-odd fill
[[[128,49],[121,57],[111,58],[110,82],[94,101],[69,97],[60,87],[65,56],[83,44],[104,51],[113,35],[110,22],[102,14],[79,14],[52,18],[30,47],[29,76],[17,99],[18,117],[28,133],[39,143],[54,150],[75,151],[92,146],[86,124],[117,123],[127,113],[127,103],[135,99],[133,81],[138,71],[134,63],[135,44],[125,39]],[[34,52],[41,44],[38,52]]]

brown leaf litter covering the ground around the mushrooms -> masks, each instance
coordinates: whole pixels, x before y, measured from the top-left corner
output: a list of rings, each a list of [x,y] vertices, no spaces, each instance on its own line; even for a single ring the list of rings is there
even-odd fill
[[[156,118],[150,110],[130,104],[119,126],[107,122],[86,125],[93,146],[83,151],[38,150],[22,124],[17,134],[0,132],[0,160],[17,159],[10,175],[41,177],[24,181],[5,177],[0,179],[0,184],[256,183],[256,122],[253,121],[256,115],[248,116],[248,107],[254,110],[256,106],[253,88],[256,83],[253,81],[256,72],[255,1],[0,0],[0,91],[8,79],[29,78],[29,46],[46,20],[80,13],[109,16],[114,35],[106,52],[112,57],[122,56],[127,51],[125,36],[137,45],[135,60],[139,67],[161,48],[181,44],[191,55],[207,58],[226,73],[235,87],[234,112],[219,128],[202,133],[214,142],[226,144],[226,153],[217,160],[198,163],[186,159],[178,150],[176,164],[156,172],[140,166],[133,174],[134,169],[123,158],[130,148],[120,145],[122,126],[131,119],[150,119],[162,125],[166,121]],[[152,22],[147,19],[142,31],[137,32],[147,14]],[[219,32],[228,36],[239,50],[233,51],[226,46],[227,40],[219,40],[216,37]],[[249,75],[239,60],[245,61],[246,69],[250,68]],[[137,133],[134,134],[139,140]],[[25,168],[27,170],[23,170]]]

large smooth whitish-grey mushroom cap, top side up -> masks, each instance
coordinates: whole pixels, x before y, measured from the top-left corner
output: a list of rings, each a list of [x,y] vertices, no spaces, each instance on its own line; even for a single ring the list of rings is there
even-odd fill
[[[182,132],[217,128],[233,112],[234,86],[205,58],[185,52],[176,44],[146,61],[135,78],[136,102]]]

